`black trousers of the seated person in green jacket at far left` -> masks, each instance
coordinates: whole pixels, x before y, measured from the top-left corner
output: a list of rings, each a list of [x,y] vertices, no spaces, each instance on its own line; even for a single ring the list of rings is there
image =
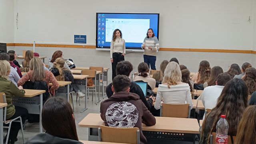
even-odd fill
[[[22,119],[22,124],[24,124],[25,120],[28,117],[28,110],[26,108],[18,107],[18,106],[15,106],[15,110],[16,111],[14,115],[10,117],[8,120],[14,119],[20,116]],[[18,118],[17,120],[20,120],[20,119]],[[19,130],[20,130],[20,122],[12,122],[9,139],[17,138]]]

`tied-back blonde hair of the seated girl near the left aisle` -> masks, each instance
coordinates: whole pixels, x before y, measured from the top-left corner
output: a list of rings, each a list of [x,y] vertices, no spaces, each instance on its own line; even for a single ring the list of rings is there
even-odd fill
[[[65,81],[64,79],[64,71],[63,70],[68,70],[64,67],[65,64],[65,59],[63,59],[62,57],[59,57],[55,60],[55,62],[53,63],[54,67],[58,69],[60,75],[58,75],[56,77],[57,81]]]

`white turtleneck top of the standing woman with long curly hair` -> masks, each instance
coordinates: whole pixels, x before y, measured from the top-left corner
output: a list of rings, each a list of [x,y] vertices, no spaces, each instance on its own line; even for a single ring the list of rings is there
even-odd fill
[[[124,53],[125,54],[125,40],[121,37],[116,37],[115,41],[110,43],[110,58],[113,58],[113,53]]]

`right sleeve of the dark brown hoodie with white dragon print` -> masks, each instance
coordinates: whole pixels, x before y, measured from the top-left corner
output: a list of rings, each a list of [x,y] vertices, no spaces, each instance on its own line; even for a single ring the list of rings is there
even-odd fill
[[[156,118],[150,113],[148,108],[143,105],[143,115],[142,115],[142,123],[146,124],[146,126],[154,126],[156,124]]]

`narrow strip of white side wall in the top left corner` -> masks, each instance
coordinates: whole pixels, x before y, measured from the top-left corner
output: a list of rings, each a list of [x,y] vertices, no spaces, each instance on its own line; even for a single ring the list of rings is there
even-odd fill
[[[14,42],[14,0],[0,0],[0,42]]]

